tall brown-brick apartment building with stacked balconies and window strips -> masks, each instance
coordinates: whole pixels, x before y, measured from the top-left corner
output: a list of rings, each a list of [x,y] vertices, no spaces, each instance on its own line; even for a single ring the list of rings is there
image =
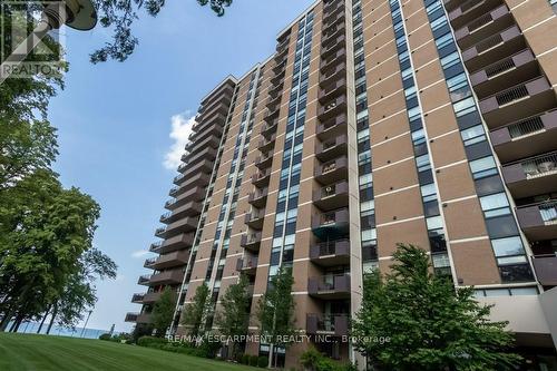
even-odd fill
[[[145,262],[154,273],[133,297],[141,311],[126,319],[148,323],[170,286],[179,334],[196,287],[207,283],[218,305],[241,274],[255,312],[290,266],[296,325],[354,360],[342,336],[362,273],[387,272],[395,244],[412,243],[437,274],[495,304],[529,364],[557,369],[554,2],[312,4],[273,56],[202,100],[150,246],[158,256]],[[306,346],[278,350],[280,364],[295,367]]]

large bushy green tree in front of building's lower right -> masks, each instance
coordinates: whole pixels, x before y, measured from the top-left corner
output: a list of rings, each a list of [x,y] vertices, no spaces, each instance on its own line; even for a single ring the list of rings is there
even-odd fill
[[[520,357],[505,352],[512,343],[507,323],[489,321],[490,306],[473,299],[473,287],[455,289],[432,274],[419,247],[399,244],[393,258],[391,273],[364,276],[362,305],[352,323],[354,348],[373,367],[514,370]]]

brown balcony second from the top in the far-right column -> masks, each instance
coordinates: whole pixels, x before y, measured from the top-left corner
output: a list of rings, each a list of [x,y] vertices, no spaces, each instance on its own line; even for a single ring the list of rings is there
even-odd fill
[[[475,18],[471,22],[455,31],[455,38],[461,49],[467,49],[475,43],[500,32],[514,25],[512,16],[506,4]]]

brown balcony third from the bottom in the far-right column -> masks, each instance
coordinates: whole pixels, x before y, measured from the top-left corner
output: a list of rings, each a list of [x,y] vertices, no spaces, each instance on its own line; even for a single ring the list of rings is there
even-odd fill
[[[505,183],[515,198],[557,191],[557,152],[502,166]]]

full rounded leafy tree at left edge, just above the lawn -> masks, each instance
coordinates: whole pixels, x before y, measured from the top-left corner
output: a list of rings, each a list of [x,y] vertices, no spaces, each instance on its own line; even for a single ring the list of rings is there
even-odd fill
[[[50,170],[36,170],[1,192],[0,330],[47,310],[80,270],[91,248],[99,206],[77,188],[63,189]]]

